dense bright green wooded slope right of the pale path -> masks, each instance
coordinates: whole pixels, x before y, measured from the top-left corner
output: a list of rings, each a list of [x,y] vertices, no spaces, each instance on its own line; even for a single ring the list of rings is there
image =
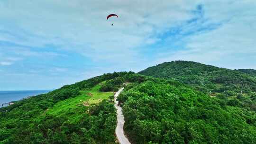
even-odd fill
[[[118,98],[133,144],[255,144],[256,113],[175,81],[147,79]]]

